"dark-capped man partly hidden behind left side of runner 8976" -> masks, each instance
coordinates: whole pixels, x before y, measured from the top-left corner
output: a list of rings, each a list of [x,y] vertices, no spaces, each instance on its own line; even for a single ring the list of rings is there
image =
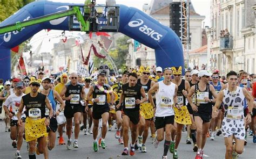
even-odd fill
[[[118,100],[116,101],[116,105],[119,103],[120,101],[120,95],[122,94],[122,85],[128,83],[128,76],[129,76],[129,71],[124,71],[123,75],[122,75],[122,81],[118,82],[116,84],[114,84],[112,86],[113,91],[116,91],[117,95],[118,95]],[[122,101],[121,101],[122,102]],[[114,137],[116,139],[118,139],[119,144],[123,144],[123,127],[122,123],[123,123],[123,119],[122,119],[122,106],[120,105],[119,108],[116,107],[116,116],[117,116],[117,132],[116,134],[114,134]]]

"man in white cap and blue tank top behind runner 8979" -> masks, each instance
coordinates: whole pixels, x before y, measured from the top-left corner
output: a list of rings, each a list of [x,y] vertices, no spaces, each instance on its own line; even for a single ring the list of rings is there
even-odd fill
[[[55,147],[56,131],[58,127],[56,115],[59,115],[59,113],[62,112],[65,106],[65,103],[63,102],[62,98],[59,96],[58,92],[51,90],[50,85],[51,85],[51,78],[44,77],[42,79],[43,90],[41,91],[41,93],[48,97],[50,105],[53,110],[53,116],[50,119],[50,125],[47,128],[48,146],[45,147],[44,158],[49,158],[48,149],[52,150],[53,147]],[[60,108],[57,111],[56,111],[56,100],[60,103]],[[48,117],[49,115],[49,109],[47,108],[45,109],[45,115],[46,117]]]

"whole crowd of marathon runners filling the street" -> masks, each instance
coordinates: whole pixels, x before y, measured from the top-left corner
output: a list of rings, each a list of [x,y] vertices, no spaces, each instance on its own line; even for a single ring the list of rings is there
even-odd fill
[[[159,158],[167,158],[168,151],[179,158],[181,134],[187,131],[186,143],[196,159],[203,158],[207,137],[214,140],[215,135],[224,137],[225,158],[237,158],[247,135],[256,143],[254,81],[256,75],[243,70],[220,76],[218,70],[183,73],[181,67],[141,66],[117,77],[64,73],[57,78],[39,70],[37,76],[0,79],[0,117],[17,149],[15,158],[22,158],[23,140],[29,158],[51,158],[56,140],[68,150],[79,148],[81,132],[92,134],[92,151],[106,149],[106,133],[114,125],[122,155],[147,153],[146,147],[158,148],[163,141]],[[152,144],[146,145],[149,134]]]

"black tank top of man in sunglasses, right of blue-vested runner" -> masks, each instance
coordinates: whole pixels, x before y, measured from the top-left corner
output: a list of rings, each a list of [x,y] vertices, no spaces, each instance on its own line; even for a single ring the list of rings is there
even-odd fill
[[[72,106],[78,106],[81,105],[80,100],[81,98],[81,92],[83,89],[83,85],[77,84],[77,85],[72,85],[68,84],[66,85],[66,93],[65,96],[69,97],[70,95],[72,96],[71,100],[66,100],[65,104],[66,105],[72,105]]]

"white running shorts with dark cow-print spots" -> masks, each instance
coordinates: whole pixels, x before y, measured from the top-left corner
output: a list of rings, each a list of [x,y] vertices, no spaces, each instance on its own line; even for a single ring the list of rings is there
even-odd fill
[[[223,132],[224,138],[229,138],[234,135],[239,140],[245,140],[245,121],[232,120],[224,118],[222,121],[221,131]]]

